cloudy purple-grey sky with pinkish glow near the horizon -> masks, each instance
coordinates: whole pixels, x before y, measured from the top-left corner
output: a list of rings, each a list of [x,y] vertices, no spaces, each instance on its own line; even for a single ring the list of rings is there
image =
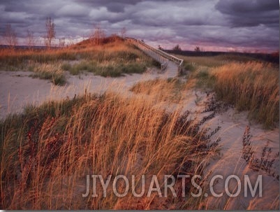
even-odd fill
[[[19,44],[29,29],[43,45],[46,17],[57,41],[82,41],[99,25],[108,36],[125,27],[126,36],[165,49],[279,50],[278,0],[0,0],[0,35],[11,24]]]

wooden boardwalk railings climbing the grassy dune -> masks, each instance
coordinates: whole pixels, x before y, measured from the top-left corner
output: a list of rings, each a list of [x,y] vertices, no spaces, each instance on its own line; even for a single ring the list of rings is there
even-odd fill
[[[165,69],[167,68],[169,60],[172,62],[175,62],[175,64],[177,64],[178,73],[180,73],[182,71],[182,66],[183,66],[183,62],[184,62],[183,59],[179,59],[177,57],[174,57],[173,55],[169,55],[168,53],[163,52],[162,50],[153,48],[152,46],[147,45],[146,43],[139,41],[135,38],[126,38],[126,40],[133,43],[138,48],[140,48],[140,50],[142,50],[147,55],[149,55],[150,57],[154,58],[157,62],[159,62],[161,64],[162,72],[165,71]]]

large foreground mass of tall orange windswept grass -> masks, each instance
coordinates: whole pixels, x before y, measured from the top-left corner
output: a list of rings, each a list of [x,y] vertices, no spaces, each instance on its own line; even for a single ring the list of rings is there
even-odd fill
[[[163,197],[146,197],[147,189],[141,198],[116,197],[110,186],[107,197],[82,197],[87,174],[134,174],[137,188],[142,175],[202,174],[212,147],[189,113],[167,113],[142,98],[85,94],[29,106],[0,130],[1,209],[197,209],[202,201],[190,198],[189,187],[186,199],[168,195],[165,205]]]

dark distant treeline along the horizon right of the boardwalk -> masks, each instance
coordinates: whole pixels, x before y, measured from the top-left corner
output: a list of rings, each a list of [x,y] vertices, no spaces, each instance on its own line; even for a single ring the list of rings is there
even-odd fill
[[[271,54],[266,53],[251,53],[251,52],[205,52],[205,51],[189,51],[189,50],[164,50],[170,54],[184,55],[190,57],[210,57],[216,55],[235,55],[235,56],[245,56],[252,57],[253,59],[263,60],[265,62],[273,62],[279,64],[279,52],[274,52]]]

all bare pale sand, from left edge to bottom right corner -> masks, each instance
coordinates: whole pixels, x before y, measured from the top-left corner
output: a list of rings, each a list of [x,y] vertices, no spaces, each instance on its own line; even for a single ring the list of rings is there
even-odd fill
[[[172,65],[172,64],[171,64]],[[120,78],[103,78],[94,76],[91,73],[82,76],[68,76],[68,83],[64,86],[55,86],[47,80],[40,80],[29,77],[31,73],[22,71],[0,71],[0,118],[5,118],[8,113],[19,113],[27,104],[40,104],[46,99],[61,99],[73,97],[75,94],[82,94],[84,90],[91,93],[101,93],[105,89],[111,87],[112,90],[127,90],[134,83],[140,80],[148,80],[154,78],[168,78],[176,75],[175,68],[172,71],[159,74],[157,71],[150,71],[143,75],[132,74]],[[205,101],[206,95],[198,92]],[[187,98],[182,101],[184,109],[201,110],[195,104],[195,92],[186,94]],[[172,105],[172,108],[178,105]],[[171,108],[171,106],[170,106]],[[233,109],[229,109],[225,113],[216,115],[214,119],[207,122],[212,129],[220,126],[218,135],[221,136],[221,157],[213,159],[209,164],[209,169],[214,174],[221,174],[224,178],[214,185],[216,193],[223,192],[224,182],[227,176],[236,174],[243,182],[244,174],[248,174],[251,181],[258,174],[263,175],[263,197],[244,197],[244,186],[238,197],[228,201],[227,195],[221,198],[207,197],[205,198],[205,207],[207,209],[270,209],[279,206],[279,181],[272,176],[268,176],[263,171],[252,171],[242,159],[242,136],[246,125],[250,125],[246,119],[246,113],[236,113]],[[257,152],[260,152],[267,142],[272,147],[272,153],[279,151],[279,129],[273,131],[265,131],[259,125],[250,125],[253,134],[252,143]],[[279,160],[276,162],[279,167]],[[279,171],[277,169],[277,174]],[[258,192],[257,192],[258,194]]]

